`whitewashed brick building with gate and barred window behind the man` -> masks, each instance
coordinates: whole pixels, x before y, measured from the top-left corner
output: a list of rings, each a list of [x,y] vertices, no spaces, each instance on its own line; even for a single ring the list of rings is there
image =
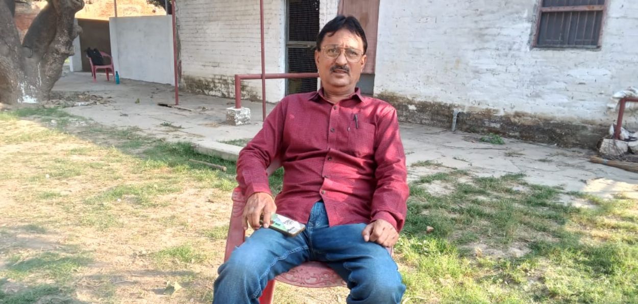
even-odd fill
[[[182,85],[234,97],[235,74],[260,73],[258,0],[182,0]],[[406,122],[595,145],[638,86],[635,0],[265,0],[267,73],[312,71],[316,33],[338,12],[358,17],[373,57],[360,87]],[[260,99],[260,81],[242,97]],[[316,80],[267,80],[267,100]],[[627,126],[638,126],[626,115]]]

